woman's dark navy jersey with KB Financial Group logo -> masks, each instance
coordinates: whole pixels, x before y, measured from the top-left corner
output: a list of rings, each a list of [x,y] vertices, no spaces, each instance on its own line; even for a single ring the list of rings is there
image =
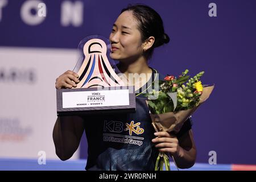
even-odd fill
[[[84,117],[88,141],[86,170],[154,170],[158,148],[151,142],[155,130],[151,125],[146,97],[155,79],[164,77],[152,69],[152,79],[146,89],[136,94],[136,111],[129,114],[98,114]],[[177,137],[191,129],[188,119]]]

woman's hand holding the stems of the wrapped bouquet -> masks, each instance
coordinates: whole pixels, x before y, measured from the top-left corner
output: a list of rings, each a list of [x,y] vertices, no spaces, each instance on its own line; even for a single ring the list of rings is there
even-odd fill
[[[175,135],[167,131],[156,132],[154,135],[158,137],[152,139],[152,142],[156,143],[155,147],[159,148],[160,152],[170,152],[171,155],[179,155],[179,140]]]

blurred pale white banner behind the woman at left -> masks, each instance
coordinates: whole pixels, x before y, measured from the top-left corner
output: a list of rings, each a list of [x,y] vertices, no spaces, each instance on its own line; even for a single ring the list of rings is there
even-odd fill
[[[0,156],[56,159],[55,80],[75,67],[76,50],[0,47],[0,60]]]

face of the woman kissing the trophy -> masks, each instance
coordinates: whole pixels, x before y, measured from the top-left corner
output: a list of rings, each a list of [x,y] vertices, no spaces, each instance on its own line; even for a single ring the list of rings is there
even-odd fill
[[[132,11],[124,11],[118,16],[109,40],[112,46],[110,57],[114,60],[123,61],[142,56],[141,32]]]

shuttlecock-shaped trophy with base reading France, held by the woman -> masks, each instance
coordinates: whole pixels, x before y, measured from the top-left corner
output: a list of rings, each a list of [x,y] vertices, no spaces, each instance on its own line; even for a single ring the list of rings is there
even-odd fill
[[[109,40],[89,36],[80,42],[79,52],[73,71],[80,82],[76,88],[56,90],[57,115],[134,112],[134,86],[125,86],[118,76],[116,62],[109,57]]]

